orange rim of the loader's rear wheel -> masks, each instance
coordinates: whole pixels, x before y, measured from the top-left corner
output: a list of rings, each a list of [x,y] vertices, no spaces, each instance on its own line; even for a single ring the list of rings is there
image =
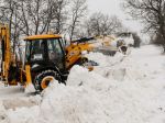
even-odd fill
[[[50,85],[50,82],[52,82],[52,81],[54,81],[54,80],[55,80],[55,78],[52,77],[52,76],[44,77],[43,80],[42,80],[42,82],[41,82],[42,89],[47,88],[48,85]]]

